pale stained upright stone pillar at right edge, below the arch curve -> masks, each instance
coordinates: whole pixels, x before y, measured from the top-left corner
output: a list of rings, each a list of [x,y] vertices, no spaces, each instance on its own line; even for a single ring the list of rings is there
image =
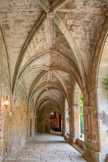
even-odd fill
[[[97,111],[99,123],[100,151],[108,153],[108,91],[106,91],[105,88],[102,87],[102,85],[99,85],[97,89]]]

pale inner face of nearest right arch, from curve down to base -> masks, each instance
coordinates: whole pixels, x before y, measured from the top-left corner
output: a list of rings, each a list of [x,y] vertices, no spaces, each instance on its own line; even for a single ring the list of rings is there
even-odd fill
[[[108,31],[103,41],[97,71],[97,111],[99,124],[100,150],[108,152],[108,91],[103,85],[108,77]]]

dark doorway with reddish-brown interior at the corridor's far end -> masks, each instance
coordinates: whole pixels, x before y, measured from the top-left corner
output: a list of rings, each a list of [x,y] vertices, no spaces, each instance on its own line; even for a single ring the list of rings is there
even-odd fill
[[[50,114],[50,129],[61,132],[61,115],[58,112]]]

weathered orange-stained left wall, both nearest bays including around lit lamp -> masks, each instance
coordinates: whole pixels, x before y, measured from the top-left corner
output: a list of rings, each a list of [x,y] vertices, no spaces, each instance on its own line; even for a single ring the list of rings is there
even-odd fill
[[[0,32],[0,158],[16,153],[30,137],[26,84],[23,79],[17,93],[11,97],[8,55],[2,32]],[[7,107],[2,104],[6,96],[9,100]]]

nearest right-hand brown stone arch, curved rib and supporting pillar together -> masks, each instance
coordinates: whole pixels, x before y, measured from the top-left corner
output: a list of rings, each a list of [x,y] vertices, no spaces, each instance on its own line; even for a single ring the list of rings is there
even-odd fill
[[[85,144],[84,144],[84,156],[89,158],[91,155],[92,160],[99,160],[99,158],[105,160],[106,155],[102,150],[102,138],[100,138],[100,119],[98,109],[98,85],[99,85],[99,68],[102,58],[102,53],[108,32],[108,17],[103,23],[100,32],[98,33],[95,50],[93,55],[93,63],[90,69],[90,75],[88,78],[88,97],[84,94],[84,116],[85,116]],[[102,79],[100,81],[102,85]],[[89,120],[88,120],[89,115]],[[88,133],[89,132],[89,133]],[[91,141],[91,147],[88,144],[88,140]],[[100,152],[101,153],[98,153]],[[103,151],[103,154],[102,154]]]

